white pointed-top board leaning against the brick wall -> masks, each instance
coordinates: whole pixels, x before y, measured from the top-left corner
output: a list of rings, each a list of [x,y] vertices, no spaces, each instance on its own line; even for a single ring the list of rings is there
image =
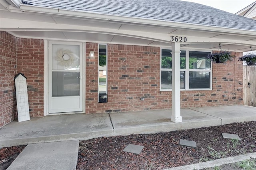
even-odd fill
[[[30,120],[28,107],[28,89],[26,77],[19,73],[15,76],[18,121]]]

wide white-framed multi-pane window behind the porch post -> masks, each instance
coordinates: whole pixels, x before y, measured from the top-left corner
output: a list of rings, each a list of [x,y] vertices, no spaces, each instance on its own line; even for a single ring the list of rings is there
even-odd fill
[[[211,90],[212,62],[209,51],[180,50],[180,89]],[[172,90],[172,50],[161,49],[160,91]]]

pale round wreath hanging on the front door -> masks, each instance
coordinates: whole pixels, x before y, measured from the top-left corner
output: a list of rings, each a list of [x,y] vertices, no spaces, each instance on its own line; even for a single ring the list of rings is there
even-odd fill
[[[75,61],[78,60],[78,57],[70,50],[59,49],[57,51],[56,60],[61,66],[72,67]]]

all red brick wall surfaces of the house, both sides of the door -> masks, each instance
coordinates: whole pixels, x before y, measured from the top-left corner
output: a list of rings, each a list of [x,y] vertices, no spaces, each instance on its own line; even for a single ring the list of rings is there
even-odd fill
[[[44,41],[1,31],[0,126],[17,117],[14,76],[28,78],[30,117],[44,115]],[[89,57],[90,51],[95,57]],[[242,104],[242,62],[213,63],[212,90],[181,91],[181,107]],[[170,109],[172,92],[160,92],[160,47],[108,44],[108,102],[98,103],[98,44],[86,43],[86,113]],[[236,70],[236,72],[235,72]],[[140,100],[144,98],[144,100]]]

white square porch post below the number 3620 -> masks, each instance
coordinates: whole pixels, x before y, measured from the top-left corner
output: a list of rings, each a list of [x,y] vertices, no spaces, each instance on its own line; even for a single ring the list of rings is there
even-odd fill
[[[182,122],[180,116],[180,43],[172,43],[172,115],[171,121]]]

